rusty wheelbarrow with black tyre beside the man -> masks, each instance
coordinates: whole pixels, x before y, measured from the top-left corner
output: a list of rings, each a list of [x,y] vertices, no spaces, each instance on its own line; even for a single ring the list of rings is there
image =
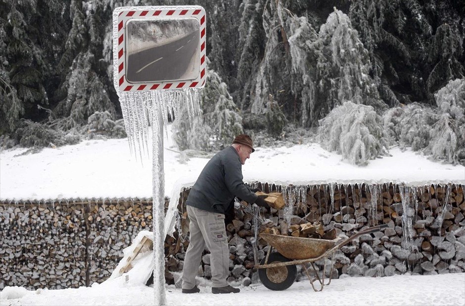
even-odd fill
[[[268,242],[268,252],[261,260],[260,265],[255,265],[254,268],[258,269],[258,276],[265,287],[270,290],[285,290],[294,283],[297,274],[296,265],[302,265],[313,290],[322,291],[324,286],[331,283],[331,273],[329,273],[329,280],[325,283],[327,261],[323,268],[322,277],[318,275],[315,262],[332,256],[329,268],[329,272],[331,272],[334,254],[340,247],[360,235],[372,233],[387,228],[387,226],[387,224],[373,226],[361,230],[347,239],[339,236],[332,240],[261,233],[259,236]],[[278,252],[272,252],[273,248]],[[310,277],[305,265],[307,263],[311,263],[316,274],[314,278]],[[316,282],[317,280],[320,285]]]

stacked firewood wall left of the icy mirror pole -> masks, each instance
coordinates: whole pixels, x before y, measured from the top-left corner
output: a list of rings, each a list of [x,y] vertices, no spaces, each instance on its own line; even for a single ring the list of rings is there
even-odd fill
[[[0,217],[0,290],[77,288],[108,278],[123,249],[141,230],[152,229],[152,203],[5,201]]]

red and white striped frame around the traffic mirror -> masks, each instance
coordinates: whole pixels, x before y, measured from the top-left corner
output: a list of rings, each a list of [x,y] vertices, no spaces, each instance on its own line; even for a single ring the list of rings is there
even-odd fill
[[[132,83],[126,79],[126,41],[125,26],[132,18],[197,18],[200,24],[199,75],[193,80],[166,82],[138,82]],[[114,85],[117,91],[135,92],[163,89],[203,88],[205,85],[205,38],[206,38],[205,9],[201,6],[128,6],[117,7],[113,11],[113,63]]]

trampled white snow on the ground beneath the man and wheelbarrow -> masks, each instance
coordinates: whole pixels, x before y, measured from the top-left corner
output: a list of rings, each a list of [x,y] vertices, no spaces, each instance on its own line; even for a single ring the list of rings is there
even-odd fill
[[[211,282],[200,292],[183,294],[167,286],[167,305],[464,305],[465,273],[394,275],[334,279],[323,291],[314,292],[308,281],[294,282],[283,291],[261,284],[241,287],[237,294],[212,294]],[[0,293],[8,305],[153,305],[153,288],[115,278],[92,287],[28,291],[6,287]]]

